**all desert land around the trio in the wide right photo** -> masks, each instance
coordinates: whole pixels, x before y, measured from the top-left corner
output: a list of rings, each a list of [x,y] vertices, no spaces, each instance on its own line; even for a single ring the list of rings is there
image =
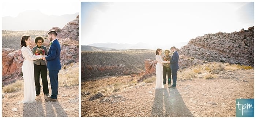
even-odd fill
[[[254,26],[178,49],[174,89],[154,88],[155,50],[81,49],[82,117],[235,117],[236,99],[254,99]]]

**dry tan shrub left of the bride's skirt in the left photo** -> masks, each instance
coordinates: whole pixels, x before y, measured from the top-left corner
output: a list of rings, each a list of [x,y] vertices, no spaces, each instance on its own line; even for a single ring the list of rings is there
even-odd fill
[[[3,87],[2,92],[12,93],[19,92],[23,90],[24,82],[22,80],[17,80],[16,82],[6,85]]]

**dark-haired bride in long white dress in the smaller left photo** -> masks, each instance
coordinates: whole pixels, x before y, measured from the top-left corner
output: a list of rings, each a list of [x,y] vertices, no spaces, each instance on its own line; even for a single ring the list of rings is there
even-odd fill
[[[24,79],[24,97],[23,103],[35,102],[35,80],[34,80],[34,64],[33,60],[42,58],[42,55],[33,55],[29,45],[31,43],[30,36],[23,35],[21,40],[21,53],[24,58],[22,65],[22,74]]]

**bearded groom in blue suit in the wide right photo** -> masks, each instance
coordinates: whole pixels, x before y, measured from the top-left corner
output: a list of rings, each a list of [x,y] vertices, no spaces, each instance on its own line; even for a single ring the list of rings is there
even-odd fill
[[[170,49],[173,53],[172,59],[170,60],[170,68],[172,69],[172,77],[173,77],[173,85],[171,88],[176,87],[176,81],[177,81],[177,71],[179,69],[178,60],[179,60],[179,54],[176,51],[176,47],[171,47]]]

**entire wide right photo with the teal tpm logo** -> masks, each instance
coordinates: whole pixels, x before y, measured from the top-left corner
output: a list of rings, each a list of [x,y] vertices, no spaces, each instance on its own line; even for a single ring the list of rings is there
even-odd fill
[[[81,117],[254,117],[254,2],[81,2]]]

